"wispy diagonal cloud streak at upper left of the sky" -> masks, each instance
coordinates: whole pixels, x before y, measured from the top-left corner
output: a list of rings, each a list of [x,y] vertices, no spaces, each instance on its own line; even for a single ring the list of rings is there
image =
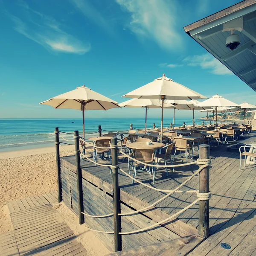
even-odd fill
[[[63,31],[60,23],[54,18],[31,9],[22,1],[19,6],[20,12],[26,11],[30,14],[26,15],[26,20],[21,20],[7,11],[6,15],[13,21],[14,29],[20,34],[52,51],[84,54],[90,50],[90,44],[84,44],[73,35]]]

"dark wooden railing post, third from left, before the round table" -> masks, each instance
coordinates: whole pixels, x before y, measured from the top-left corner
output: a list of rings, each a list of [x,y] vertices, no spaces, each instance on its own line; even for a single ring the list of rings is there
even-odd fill
[[[117,146],[117,138],[111,139],[111,145]],[[111,149],[112,157],[112,166],[116,168],[112,169],[112,183],[113,183],[113,208],[114,208],[114,247],[115,252],[122,250],[122,235],[119,235],[121,232],[121,216],[118,215],[121,213],[121,203],[120,203],[120,189],[118,184],[118,158],[117,158],[117,148]]]

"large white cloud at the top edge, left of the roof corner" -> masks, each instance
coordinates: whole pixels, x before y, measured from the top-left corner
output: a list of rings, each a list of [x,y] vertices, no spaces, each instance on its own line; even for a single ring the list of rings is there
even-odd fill
[[[174,2],[166,0],[116,0],[131,13],[128,28],[140,38],[151,38],[165,49],[181,48],[175,24]]]

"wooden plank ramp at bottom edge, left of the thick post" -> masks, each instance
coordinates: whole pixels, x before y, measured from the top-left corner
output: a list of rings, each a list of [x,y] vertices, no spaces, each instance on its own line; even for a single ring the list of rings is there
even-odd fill
[[[137,247],[131,250],[123,250],[116,253],[110,253],[109,256],[185,256],[194,247],[201,243],[203,239],[197,235],[180,237],[171,241],[149,244]]]

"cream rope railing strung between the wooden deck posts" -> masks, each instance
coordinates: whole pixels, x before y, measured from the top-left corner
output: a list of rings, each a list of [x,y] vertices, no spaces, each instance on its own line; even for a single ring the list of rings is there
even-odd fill
[[[156,128],[158,128],[156,126]],[[136,129],[136,128],[133,128],[134,130],[139,130],[139,129]],[[57,131],[56,131],[57,130]],[[101,131],[108,131],[108,130],[104,130],[104,129],[101,129]],[[125,131],[129,131],[129,130],[125,130]],[[118,132],[125,132],[125,131],[118,131]],[[98,132],[98,131],[97,131]],[[93,132],[93,133],[97,133],[97,132]],[[113,131],[108,131],[108,132],[113,132]],[[114,132],[114,133],[118,133],[118,132]],[[55,129],[55,145],[56,145],[56,153],[57,153],[57,146],[61,146],[61,148],[66,151],[61,144],[65,144],[65,145],[74,145],[74,144],[71,144],[69,142],[73,141],[73,140],[68,140],[66,139],[64,136],[61,135],[61,131],[58,131],[58,128]],[[63,132],[64,134],[71,134],[71,133],[66,133],[66,132]],[[89,134],[93,134],[93,133],[89,133]],[[58,139],[58,135],[65,141],[67,142],[61,142],[59,141]],[[142,209],[137,209],[137,210],[134,210],[134,211],[131,211],[131,212],[120,212],[120,208],[118,210],[118,208],[116,208],[117,206],[116,205],[119,205],[120,207],[120,196],[118,196],[119,199],[116,199],[116,202],[114,202],[114,211],[113,213],[108,213],[108,214],[105,214],[105,215],[92,215],[92,214],[89,214],[87,212],[84,211],[84,207],[83,207],[83,203],[82,201],[79,203],[79,223],[80,224],[83,224],[84,221],[83,219],[84,218],[81,218],[81,216],[87,216],[87,217],[90,217],[90,218],[108,218],[108,217],[112,217],[114,216],[114,218],[118,218],[118,216],[127,216],[127,215],[133,215],[133,214],[138,214],[138,213],[142,213],[142,212],[145,212],[145,211],[148,211],[149,209],[153,208],[153,207],[156,207],[157,204],[159,204],[160,202],[162,202],[163,200],[165,200],[166,198],[168,198],[170,195],[174,194],[174,193],[194,193],[196,194],[197,198],[195,201],[193,201],[192,203],[190,203],[189,205],[187,205],[186,207],[184,207],[183,209],[180,209],[178,212],[174,213],[173,215],[169,216],[168,218],[165,218],[157,223],[154,223],[150,226],[147,226],[147,227],[143,227],[143,228],[140,228],[140,229],[137,229],[137,230],[130,230],[130,231],[126,231],[126,232],[120,232],[121,230],[121,222],[120,222],[120,229],[116,229],[114,227],[114,231],[104,231],[104,230],[94,230],[90,227],[87,227],[89,230],[92,230],[94,232],[98,232],[98,233],[108,233],[108,234],[117,234],[117,236],[121,236],[121,235],[128,235],[128,234],[134,234],[134,233],[140,233],[140,232],[143,232],[143,231],[147,231],[147,230],[151,230],[152,228],[154,227],[157,227],[161,224],[164,224],[166,222],[168,222],[169,220],[175,218],[176,216],[182,214],[184,211],[186,211],[186,209],[189,209],[191,208],[193,205],[197,204],[198,202],[200,201],[206,201],[206,200],[209,200],[210,197],[211,197],[211,192],[207,192],[209,191],[209,187],[208,187],[208,190],[207,189],[202,189],[202,186],[200,187],[199,186],[199,190],[195,190],[195,189],[192,189],[192,190],[181,190],[180,188],[183,187],[186,183],[188,183],[190,180],[192,180],[196,175],[200,174],[200,172],[202,170],[204,170],[204,174],[205,174],[205,170],[207,170],[207,167],[210,166],[211,164],[211,159],[210,158],[206,158],[206,159],[202,159],[199,158],[198,160],[196,161],[192,161],[190,163],[182,163],[182,164],[169,164],[169,165],[159,165],[159,164],[149,164],[149,163],[144,163],[143,161],[140,161],[140,160],[137,160],[135,159],[134,157],[131,156],[131,154],[126,154],[124,151],[122,151],[122,148],[120,149],[120,145],[123,145],[125,146],[125,144],[122,144],[122,139],[117,141],[116,139],[112,139],[111,143],[113,145],[110,144],[109,147],[105,147],[105,146],[97,146],[95,145],[95,142],[94,143],[88,143],[83,137],[79,136],[78,134],[78,131],[75,131],[75,136],[74,136],[74,140],[75,140],[75,145],[76,145],[76,150],[75,150],[75,154],[76,154],[76,162],[79,161],[79,154],[81,154],[83,160],[87,160],[91,163],[94,163],[95,165],[98,165],[98,166],[104,166],[104,167],[108,167],[110,168],[111,170],[113,169],[113,195],[114,193],[116,193],[115,191],[117,191],[116,189],[119,188],[119,185],[118,185],[118,177],[116,175],[118,175],[118,169],[120,170],[120,172],[122,172],[122,174],[124,174],[125,176],[129,177],[131,180],[141,184],[142,186],[145,186],[145,187],[148,187],[149,189],[152,189],[154,191],[158,191],[158,192],[164,192],[164,193],[167,193],[166,195],[163,195],[163,197],[161,197],[160,199],[158,199],[157,201],[155,201],[153,204],[150,204],[148,205],[147,207],[144,207]],[[112,150],[112,159],[111,159],[111,164],[102,164],[102,163],[98,163],[96,162],[96,160],[94,161],[94,158],[93,160],[90,159],[89,157],[87,157],[84,152],[80,152],[79,150],[79,140],[81,142],[84,143],[84,145],[88,145],[90,146],[91,148],[97,150],[97,148],[99,149],[111,149]],[[83,144],[82,144],[83,145]],[[204,145],[204,147],[206,147]],[[118,149],[119,148],[119,149]],[[125,148],[125,147],[124,147]],[[116,153],[115,153],[116,152]],[[202,151],[203,152],[203,151]],[[208,151],[209,152],[209,151]],[[67,154],[70,154],[70,152],[67,152]],[[59,154],[59,152],[58,152]],[[154,187],[154,186],[151,186],[151,185],[148,185],[146,183],[143,183],[142,181],[138,180],[137,178],[133,177],[132,175],[128,174],[127,172],[125,172],[122,168],[119,168],[118,164],[117,164],[117,156],[119,154],[122,154],[124,157],[127,157],[128,158],[128,162],[129,160],[132,160],[134,161],[135,163],[140,163],[142,164],[143,166],[150,166],[150,167],[163,167],[163,168],[173,168],[173,167],[182,167],[182,166],[190,166],[190,165],[194,165],[194,164],[197,164],[197,165],[200,165],[200,167],[198,168],[197,171],[195,171],[195,173],[193,173],[190,177],[188,177],[185,181],[183,181],[183,183],[181,183],[179,186],[177,186],[175,189],[158,189],[157,187]],[[204,154],[206,155],[206,153]],[[209,153],[208,153],[208,157],[209,157]],[[112,163],[113,161],[113,163]],[[57,161],[58,163],[58,161]],[[57,166],[57,168],[59,168]],[[78,178],[77,180],[77,183],[79,184],[79,193],[80,195],[82,195],[82,185],[81,185],[81,170],[79,171],[79,169],[81,169],[80,167],[80,161],[79,161],[79,164],[77,163],[77,172],[79,173],[80,172],[80,178]],[[60,171],[58,171],[60,172]],[[209,168],[208,168],[208,172],[209,172]],[[203,174],[203,175],[204,175]],[[117,180],[117,182],[114,182],[114,177],[116,177],[115,179]],[[201,176],[199,176],[201,177]],[[208,179],[209,179],[209,176],[207,176]],[[209,181],[208,181],[209,182]],[[115,185],[115,188],[114,188],[114,184]],[[201,184],[201,183],[200,183]],[[117,188],[116,188],[117,187]],[[201,189],[201,190],[200,190]],[[118,194],[115,194],[115,198],[117,198]],[[80,199],[79,199],[80,200]],[[82,200],[82,199],[81,199]],[[59,200],[58,200],[59,201]],[[119,202],[119,203],[118,203]],[[199,209],[200,206],[202,207],[202,203],[199,203]],[[132,206],[131,206],[132,207]],[[200,216],[200,211],[199,211],[199,216]],[[201,221],[204,221],[203,218],[201,218]],[[207,222],[205,222],[207,223]],[[209,224],[208,224],[209,225]],[[199,228],[200,230],[200,228]],[[200,232],[199,232],[200,233]],[[116,240],[115,240],[115,243],[116,243]]]

